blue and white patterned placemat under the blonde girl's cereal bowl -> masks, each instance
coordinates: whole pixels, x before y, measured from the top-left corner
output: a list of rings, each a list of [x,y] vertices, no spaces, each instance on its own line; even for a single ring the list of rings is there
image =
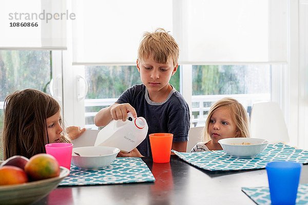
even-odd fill
[[[172,150],[172,152],[191,165],[209,171],[262,169],[269,161],[308,163],[308,151],[295,149],[283,143],[267,145],[262,153],[253,158],[232,157],[223,150],[191,153]]]

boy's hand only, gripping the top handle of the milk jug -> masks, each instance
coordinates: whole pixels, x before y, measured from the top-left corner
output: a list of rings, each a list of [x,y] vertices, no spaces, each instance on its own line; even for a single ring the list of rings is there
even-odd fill
[[[126,121],[127,111],[129,111],[133,117],[137,117],[136,110],[128,103],[112,105],[110,114],[114,120],[122,119],[123,121]]]

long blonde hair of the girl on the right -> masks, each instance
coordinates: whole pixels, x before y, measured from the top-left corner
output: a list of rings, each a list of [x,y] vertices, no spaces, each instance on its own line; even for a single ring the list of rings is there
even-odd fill
[[[236,99],[225,97],[218,100],[209,109],[201,141],[207,142],[210,140],[210,135],[208,133],[208,125],[210,122],[210,118],[214,114],[214,112],[220,108],[227,109],[232,120],[235,122],[236,129],[238,132],[234,137],[250,137],[248,128],[248,117],[245,108]]]

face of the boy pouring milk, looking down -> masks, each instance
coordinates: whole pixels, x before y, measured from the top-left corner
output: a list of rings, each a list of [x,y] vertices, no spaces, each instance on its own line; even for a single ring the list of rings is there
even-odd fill
[[[150,94],[165,91],[168,88],[169,80],[176,73],[178,64],[174,66],[171,59],[166,64],[160,64],[150,57],[143,60],[137,59],[137,69],[142,83]]]

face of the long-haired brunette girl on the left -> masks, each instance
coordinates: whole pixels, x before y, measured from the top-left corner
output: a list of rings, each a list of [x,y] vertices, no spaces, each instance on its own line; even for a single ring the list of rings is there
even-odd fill
[[[61,114],[60,111],[55,115],[48,117],[46,119],[47,133],[49,138],[49,143],[60,142],[61,132],[63,131],[61,127]]]

